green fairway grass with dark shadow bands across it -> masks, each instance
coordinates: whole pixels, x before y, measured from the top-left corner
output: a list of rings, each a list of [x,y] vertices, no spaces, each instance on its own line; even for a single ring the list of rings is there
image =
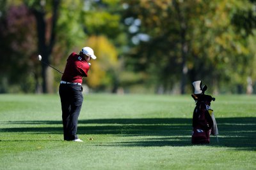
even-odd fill
[[[256,169],[256,96],[216,96],[219,143],[191,145],[190,96],[84,96],[63,141],[58,95],[0,95],[0,169]]]

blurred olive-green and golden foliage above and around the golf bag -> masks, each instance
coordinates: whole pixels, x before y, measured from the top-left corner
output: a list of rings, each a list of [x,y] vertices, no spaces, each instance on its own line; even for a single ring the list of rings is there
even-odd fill
[[[129,1],[125,20],[140,20],[138,31],[130,32],[131,39],[141,33],[149,41],[139,41],[127,63],[134,70],[147,71],[152,85],[173,89],[175,82],[204,80],[216,89],[241,85],[252,76],[254,52],[248,48],[248,27],[235,19],[241,11],[253,13],[250,1]],[[253,15],[249,15],[253,17]],[[254,15],[255,18],[255,15]],[[248,20],[244,22],[250,24]],[[134,22],[126,22],[129,27]],[[253,34],[253,26],[247,33]],[[247,34],[246,33],[246,34]],[[134,52],[135,51],[135,52]],[[254,74],[254,73],[253,73]],[[155,77],[155,78],[154,78]],[[154,81],[152,81],[154,80]],[[179,84],[178,83],[178,84]],[[190,92],[190,88],[189,89]],[[236,90],[235,90],[236,91]]]

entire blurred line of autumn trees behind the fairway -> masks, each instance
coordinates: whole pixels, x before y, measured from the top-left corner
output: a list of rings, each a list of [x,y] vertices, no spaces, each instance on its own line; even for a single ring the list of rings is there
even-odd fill
[[[95,50],[93,92],[256,91],[256,1],[0,1],[0,93],[57,92],[71,52]]]

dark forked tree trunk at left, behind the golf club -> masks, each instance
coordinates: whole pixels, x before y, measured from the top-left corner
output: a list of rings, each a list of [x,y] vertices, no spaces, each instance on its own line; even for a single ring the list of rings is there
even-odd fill
[[[56,38],[56,24],[58,18],[58,8],[60,5],[60,0],[51,1],[51,18],[47,18],[46,16],[46,3],[45,1],[36,1],[33,3],[32,1],[25,1],[29,9],[32,11],[33,15],[36,18],[36,28],[38,34],[38,53],[40,53],[42,57],[42,61],[51,64],[50,55],[52,53],[52,48],[55,44]],[[49,38],[47,39],[47,24],[51,24],[51,29],[49,33]],[[44,93],[52,92],[52,76],[51,70],[49,70],[49,66],[46,66],[42,63],[42,78],[43,85],[42,90]]]

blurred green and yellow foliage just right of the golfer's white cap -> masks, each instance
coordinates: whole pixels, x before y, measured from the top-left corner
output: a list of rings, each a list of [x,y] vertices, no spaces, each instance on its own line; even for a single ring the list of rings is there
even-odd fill
[[[86,45],[97,54],[92,62],[88,85],[95,90],[116,92],[120,82],[120,60],[122,48],[126,43],[122,24],[120,24],[120,2],[86,1],[83,11],[83,28],[88,35]]]

